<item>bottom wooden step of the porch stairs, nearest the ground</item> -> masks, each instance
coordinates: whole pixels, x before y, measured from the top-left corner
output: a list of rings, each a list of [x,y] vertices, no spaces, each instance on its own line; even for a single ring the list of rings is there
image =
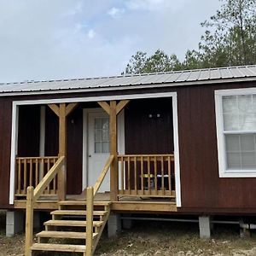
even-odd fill
[[[32,251],[49,251],[49,252],[67,252],[67,253],[84,253],[84,245],[73,244],[55,244],[55,243],[34,243]]]

